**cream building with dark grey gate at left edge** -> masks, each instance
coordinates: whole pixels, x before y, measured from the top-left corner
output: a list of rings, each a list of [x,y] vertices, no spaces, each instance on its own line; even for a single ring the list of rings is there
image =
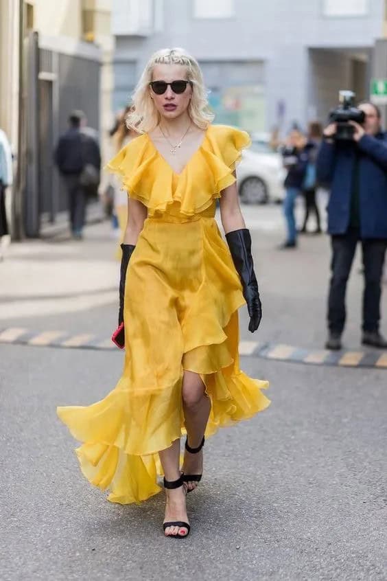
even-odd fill
[[[42,223],[67,208],[53,151],[69,112],[82,109],[89,125],[108,135],[110,16],[111,0],[0,0],[0,124],[16,159],[16,238],[38,236]]]

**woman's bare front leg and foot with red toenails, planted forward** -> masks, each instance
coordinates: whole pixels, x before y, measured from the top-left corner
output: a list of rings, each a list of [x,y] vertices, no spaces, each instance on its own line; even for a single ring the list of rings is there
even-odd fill
[[[172,446],[159,452],[161,465],[163,466],[166,480],[177,480],[180,477],[179,462],[180,462],[180,440],[175,440]],[[167,497],[165,505],[165,519],[164,522],[169,521],[183,521],[188,523],[187,509],[185,508],[185,488],[174,488],[172,490],[165,490]],[[182,527],[167,527],[165,529],[165,536],[174,536],[176,534],[187,534],[187,529]]]

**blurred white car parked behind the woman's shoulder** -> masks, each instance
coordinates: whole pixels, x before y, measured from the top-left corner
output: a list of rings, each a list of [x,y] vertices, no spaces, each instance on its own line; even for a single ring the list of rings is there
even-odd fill
[[[282,201],[284,179],[282,156],[270,148],[268,136],[253,135],[251,147],[244,150],[237,166],[240,200],[246,204]]]

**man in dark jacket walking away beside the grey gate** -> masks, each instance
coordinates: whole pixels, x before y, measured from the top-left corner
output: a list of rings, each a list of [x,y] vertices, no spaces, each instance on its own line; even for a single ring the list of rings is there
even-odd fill
[[[73,238],[80,240],[90,183],[94,180],[97,187],[101,166],[97,132],[86,127],[86,117],[82,111],[71,113],[69,129],[60,137],[56,146],[55,161],[69,195],[71,232]]]

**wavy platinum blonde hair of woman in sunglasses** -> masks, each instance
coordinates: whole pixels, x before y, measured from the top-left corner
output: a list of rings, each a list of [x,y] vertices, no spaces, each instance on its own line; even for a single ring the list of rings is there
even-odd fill
[[[160,122],[160,113],[154,106],[149,89],[154,65],[184,65],[187,67],[187,80],[192,83],[192,97],[189,100],[187,111],[196,126],[200,129],[206,129],[215,115],[209,109],[208,91],[204,86],[202,71],[198,61],[181,48],[162,49],[152,54],[136,89],[134,89],[133,108],[126,117],[126,125],[139,133],[148,133]]]

